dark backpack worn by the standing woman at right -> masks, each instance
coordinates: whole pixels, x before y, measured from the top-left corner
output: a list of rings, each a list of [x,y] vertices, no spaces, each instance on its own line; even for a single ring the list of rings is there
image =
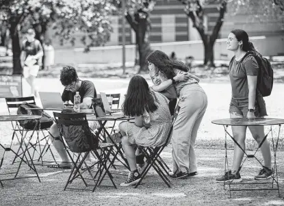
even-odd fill
[[[261,57],[259,55],[255,55],[254,53],[247,52],[244,57],[242,57],[242,61],[248,56],[253,55],[255,60],[257,60],[257,64],[259,65],[259,73],[257,75],[257,90],[261,93],[262,96],[269,96],[272,92],[273,87],[273,69],[265,57]],[[230,66],[233,63],[235,56],[230,61]]]

